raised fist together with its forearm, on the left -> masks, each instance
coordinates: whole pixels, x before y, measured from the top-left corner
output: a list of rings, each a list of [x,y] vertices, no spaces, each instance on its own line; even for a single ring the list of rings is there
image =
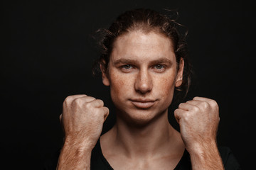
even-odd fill
[[[90,156],[109,114],[103,101],[86,96],[68,96],[60,122],[65,132],[56,169],[90,169]]]

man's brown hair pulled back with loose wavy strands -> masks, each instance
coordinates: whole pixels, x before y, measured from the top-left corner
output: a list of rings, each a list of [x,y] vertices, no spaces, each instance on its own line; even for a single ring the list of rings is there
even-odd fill
[[[181,58],[183,58],[183,80],[181,86],[178,86],[176,90],[185,92],[186,96],[191,84],[191,63],[188,61],[188,48],[185,40],[187,32],[181,35],[178,32],[178,27],[183,26],[177,23],[176,19],[151,9],[137,8],[122,13],[111,24],[110,28],[97,31],[100,33],[101,55],[92,68],[93,74],[100,72],[100,65],[102,65],[104,72],[107,72],[114,41],[120,35],[137,30],[141,30],[144,33],[154,31],[165,35],[173,43],[177,66],[179,66]]]

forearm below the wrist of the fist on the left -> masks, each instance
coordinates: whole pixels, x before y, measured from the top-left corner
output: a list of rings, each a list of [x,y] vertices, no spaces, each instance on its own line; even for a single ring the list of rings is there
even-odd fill
[[[75,145],[64,145],[58,159],[58,170],[86,169],[90,170],[91,150]]]

